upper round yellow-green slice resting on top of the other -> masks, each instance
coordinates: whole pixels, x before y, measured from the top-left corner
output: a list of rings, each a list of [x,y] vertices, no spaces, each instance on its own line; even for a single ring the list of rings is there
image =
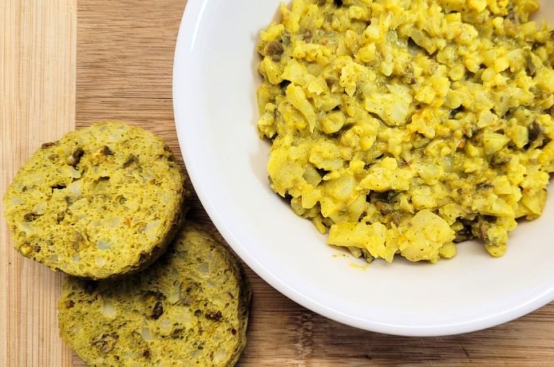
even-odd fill
[[[42,145],[6,192],[15,249],[83,278],[143,269],[181,224],[184,180],[168,145],[140,127],[107,121],[66,134]]]

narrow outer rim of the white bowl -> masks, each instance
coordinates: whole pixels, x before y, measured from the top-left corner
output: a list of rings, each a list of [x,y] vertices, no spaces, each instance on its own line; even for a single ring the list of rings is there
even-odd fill
[[[182,101],[179,96],[183,94],[182,91],[187,88],[187,84],[179,81],[187,80],[186,75],[192,70],[189,66],[190,60],[195,57],[195,37],[197,36],[199,27],[202,26],[204,20],[202,15],[210,1],[211,0],[188,0],[184,15],[181,19],[181,25],[179,26],[172,76],[175,127],[177,129],[177,138],[179,140],[179,146],[183,154],[188,176],[193,183],[202,206],[204,206],[213,224],[216,226],[217,230],[220,231],[226,242],[229,243],[233,251],[235,251],[235,253],[237,253],[238,256],[260,276],[260,278],[265,280],[266,283],[287,298],[328,319],[362,330],[405,337],[438,337],[475,332],[512,321],[554,301],[554,285],[552,285],[525,302],[521,302],[495,314],[475,317],[463,323],[431,325],[428,327],[379,323],[377,321],[370,321],[368,319],[361,319],[359,317],[344,314],[343,312],[314,301],[310,296],[307,296],[307,294],[298,292],[290,285],[283,283],[278,276],[271,273],[271,271],[266,269],[256,258],[251,256],[249,251],[247,251],[235,235],[233,235],[233,231],[226,225],[220,213],[217,211],[217,208],[211,201],[209,193],[205,190],[204,186],[202,186],[197,164],[192,159],[193,152],[189,148],[190,145],[186,143],[186,104],[181,103]]]

